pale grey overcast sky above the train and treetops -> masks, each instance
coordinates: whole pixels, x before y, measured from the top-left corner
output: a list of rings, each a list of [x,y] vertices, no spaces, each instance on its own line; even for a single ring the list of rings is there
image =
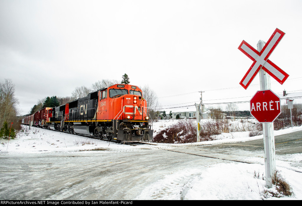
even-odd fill
[[[249,101],[259,76],[239,85],[252,65],[239,44],[257,48],[278,28],[286,34],[269,59],[290,76],[283,85],[271,78],[271,89],[301,91],[301,11],[298,0],[0,0],[0,82],[16,85],[21,114],[124,73],[155,90],[162,108],[194,105],[198,91],[203,103]]]

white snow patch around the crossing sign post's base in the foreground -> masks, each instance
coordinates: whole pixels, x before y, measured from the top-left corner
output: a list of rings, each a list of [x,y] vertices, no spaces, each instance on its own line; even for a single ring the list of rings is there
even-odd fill
[[[302,173],[288,169],[281,172],[291,182],[294,195],[266,199],[302,199]],[[184,196],[184,200],[261,200],[265,198],[264,190],[267,189],[262,174],[263,166],[244,163],[218,163],[205,170],[184,169],[145,188],[137,199],[180,200]]]

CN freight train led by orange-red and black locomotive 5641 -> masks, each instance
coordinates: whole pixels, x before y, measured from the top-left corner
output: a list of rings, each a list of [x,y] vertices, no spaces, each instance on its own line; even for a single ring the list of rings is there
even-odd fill
[[[70,134],[141,142],[153,139],[149,108],[142,90],[115,84],[58,107],[46,107],[22,119],[22,124]]]

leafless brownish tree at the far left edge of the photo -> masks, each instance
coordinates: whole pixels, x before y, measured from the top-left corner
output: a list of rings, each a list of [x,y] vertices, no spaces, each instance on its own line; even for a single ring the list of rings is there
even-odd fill
[[[20,129],[18,124],[19,115],[19,101],[15,97],[15,85],[11,79],[5,79],[4,83],[0,83],[0,129],[3,127],[4,122],[8,124],[11,122],[15,129]]]

